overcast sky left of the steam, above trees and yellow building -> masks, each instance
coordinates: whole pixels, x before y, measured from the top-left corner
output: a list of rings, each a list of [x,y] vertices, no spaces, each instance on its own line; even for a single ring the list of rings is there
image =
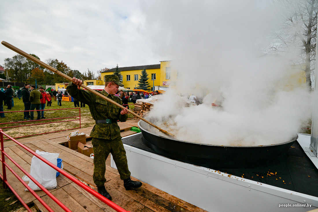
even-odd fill
[[[0,40],[80,72],[159,64],[143,1],[0,0]],[[17,53],[0,46],[0,64]]]

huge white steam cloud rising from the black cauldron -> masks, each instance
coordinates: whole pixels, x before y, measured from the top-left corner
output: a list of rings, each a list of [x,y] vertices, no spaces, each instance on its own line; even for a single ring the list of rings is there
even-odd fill
[[[171,60],[171,70],[182,75],[182,80],[171,79],[177,86],[162,95],[150,116],[159,119],[156,124],[162,128],[168,125],[178,140],[283,143],[310,118],[310,95],[291,77],[299,70],[288,65],[290,58],[263,52],[271,42],[269,35],[283,22],[280,5],[160,1],[143,7],[154,51],[162,60]],[[196,95],[203,104],[185,106],[180,93]],[[215,100],[221,107],[211,107]]]

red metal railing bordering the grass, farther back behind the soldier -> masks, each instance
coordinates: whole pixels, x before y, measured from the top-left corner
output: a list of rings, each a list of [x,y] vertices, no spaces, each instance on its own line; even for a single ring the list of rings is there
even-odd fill
[[[70,119],[70,118],[79,118],[79,119],[65,120],[65,121],[52,121],[52,122],[37,123],[37,124],[16,125],[16,126],[10,126],[10,127],[1,127],[1,129],[32,126],[32,125],[40,125],[40,124],[52,124],[52,123],[59,123],[59,122],[66,122],[66,121],[79,121],[79,127],[70,128],[70,129],[62,129],[62,130],[51,131],[51,132],[40,133],[40,134],[33,134],[33,135],[43,135],[43,134],[47,134],[47,133],[55,133],[55,132],[60,132],[60,131],[65,131],[65,130],[79,129],[81,127],[81,123],[80,123],[80,108],[79,107],[75,107],[75,108],[61,108],[61,109],[48,109],[48,110],[70,110],[70,109],[79,109],[79,116],[70,116],[70,117],[53,118],[53,119],[41,119],[41,120],[29,120],[29,121],[6,122],[6,123],[0,123],[0,125],[2,125],[2,124],[25,123],[25,122],[30,123],[30,122],[35,122],[35,121],[59,120],[59,119]],[[28,110],[28,111],[48,111],[48,110]],[[26,112],[26,111],[24,111],[24,110],[22,110],[22,111],[6,111],[6,112],[3,112],[3,113],[15,113],[15,112]],[[33,136],[33,135],[25,135],[25,136],[14,137],[14,138],[23,138],[23,137]],[[9,140],[9,138],[4,139],[4,140]]]

